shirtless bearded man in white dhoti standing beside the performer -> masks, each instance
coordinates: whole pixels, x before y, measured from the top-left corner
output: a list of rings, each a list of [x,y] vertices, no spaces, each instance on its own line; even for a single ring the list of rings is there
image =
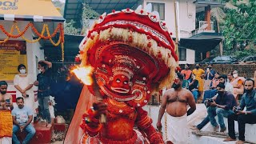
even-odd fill
[[[177,74],[173,88],[166,90],[163,95],[157,122],[158,130],[161,130],[161,119],[166,110],[168,114],[167,119],[170,120],[170,123],[167,124],[167,139],[175,144],[187,143],[186,117],[196,110],[193,94],[189,90],[182,88],[182,80],[182,74]],[[189,110],[186,108],[187,105],[190,106]]]

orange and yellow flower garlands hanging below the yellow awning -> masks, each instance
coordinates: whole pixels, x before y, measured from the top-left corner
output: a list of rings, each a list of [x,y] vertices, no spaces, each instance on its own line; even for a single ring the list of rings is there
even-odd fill
[[[37,34],[39,38],[37,38],[35,40],[30,40],[30,39],[25,38],[23,36],[30,27],[31,27],[31,30],[33,30],[34,33]],[[13,34],[14,28],[18,31],[18,34]],[[25,29],[22,30],[22,31],[19,29],[17,22],[14,22],[13,26],[11,26],[10,33],[8,33],[2,25],[0,25],[0,30],[2,30],[2,32],[4,34],[6,34],[6,36],[7,36],[7,38],[5,38],[3,41],[0,41],[0,43],[7,42],[10,38],[20,38],[20,37],[22,37],[22,39],[24,39],[26,42],[30,42],[30,43],[38,42],[40,39],[49,39],[50,42],[52,43],[52,45],[54,45],[54,46],[59,46],[61,44],[62,62],[64,62],[64,31],[63,31],[62,23],[58,23],[58,26],[54,30],[53,34],[50,34],[50,30],[49,30],[49,27],[48,27],[47,24],[43,24],[42,32],[40,34],[38,32],[38,30],[36,30],[36,28],[34,27],[34,24],[32,22],[29,22],[25,26]],[[58,42],[55,43],[52,38],[54,38],[56,36],[58,31],[60,33],[60,36],[58,38]],[[47,36],[44,35],[45,32],[46,32]]]

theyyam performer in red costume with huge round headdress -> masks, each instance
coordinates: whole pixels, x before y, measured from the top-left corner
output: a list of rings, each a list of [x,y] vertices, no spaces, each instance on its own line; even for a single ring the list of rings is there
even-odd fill
[[[142,110],[178,66],[159,14],[141,6],[102,14],[79,48],[74,72],[86,85],[64,143],[164,143]]]

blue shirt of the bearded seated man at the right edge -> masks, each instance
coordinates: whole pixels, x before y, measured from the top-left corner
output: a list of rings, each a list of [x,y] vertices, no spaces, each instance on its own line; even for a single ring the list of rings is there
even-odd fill
[[[247,93],[242,95],[240,107],[242,110],[246,107],[246,111],[256,115],[256,90],[253,90],[251,95]]]

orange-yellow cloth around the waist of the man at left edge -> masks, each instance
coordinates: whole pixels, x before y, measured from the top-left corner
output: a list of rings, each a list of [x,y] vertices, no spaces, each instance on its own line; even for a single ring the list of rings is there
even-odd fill
[[[0,138],[13,136],[13,118],[10,110],[0,110]]]

